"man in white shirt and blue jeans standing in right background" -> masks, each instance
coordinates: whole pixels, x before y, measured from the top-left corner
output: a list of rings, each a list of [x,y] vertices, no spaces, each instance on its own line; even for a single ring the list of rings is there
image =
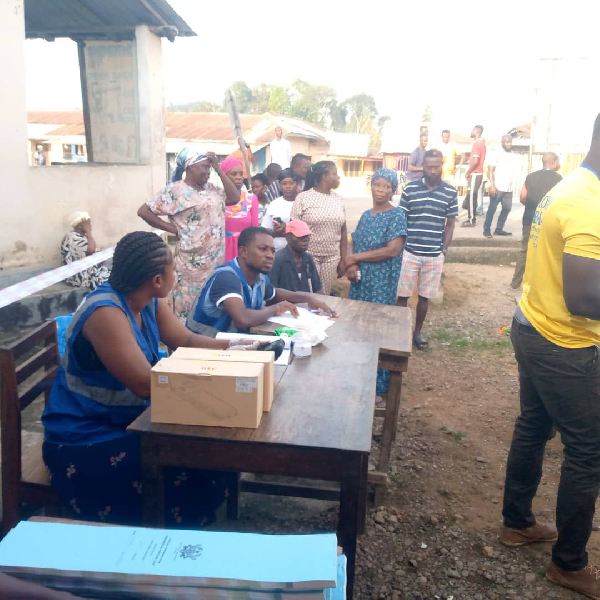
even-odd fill
[[[485,215],[483,224],[483,235],[487,238],[492,236],[492,221],[498,204],[502,205],[494,235],[512,235],[510,231],[504,231],[504,224],[508,213],[512,209],[512,195],[514,177],[517,169],[517,157],[512,151],[512,137],[502,136],[502,150],[492,159],[488,165],[488,178],[490,180],[490,205]]]

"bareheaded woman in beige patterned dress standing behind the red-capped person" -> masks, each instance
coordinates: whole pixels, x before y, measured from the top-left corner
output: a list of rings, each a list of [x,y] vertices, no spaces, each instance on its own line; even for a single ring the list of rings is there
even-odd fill
[[[315,186],[302,192],[292,208],[291,220],[304,221],[312,231],[308,251],[315,259],[323,284],[323,294],[329,295],[333,280],[345,272],[344,259],[348,247],[346,208],[336,194],[340,177],[335,163],[318,162],[313,167]]]

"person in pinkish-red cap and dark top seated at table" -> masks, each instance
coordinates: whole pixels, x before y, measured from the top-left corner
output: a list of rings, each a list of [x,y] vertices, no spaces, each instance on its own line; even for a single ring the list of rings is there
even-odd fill
[[[269,279],[276,288],[291,292],[321,292],[321,279],[308,250],[310,228],[304,221],[290,221],[285,228],[287,246],[275,253]]]

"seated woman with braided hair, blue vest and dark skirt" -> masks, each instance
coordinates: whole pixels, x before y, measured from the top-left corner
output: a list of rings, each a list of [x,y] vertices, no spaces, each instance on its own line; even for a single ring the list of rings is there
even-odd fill
[[[167,305],[174,262],[154,233],[117,244],[108,283],[89,294],[67,330],[67,348],[42,416],[43,457],[52,486],[74,515],[140,524],[140,441],[126,431],[150,403],[150,370],[159,342],[224,349],[225,340],[190,332]],[[168,525],[214,521],[225,497],[222,475],[165,473]]]

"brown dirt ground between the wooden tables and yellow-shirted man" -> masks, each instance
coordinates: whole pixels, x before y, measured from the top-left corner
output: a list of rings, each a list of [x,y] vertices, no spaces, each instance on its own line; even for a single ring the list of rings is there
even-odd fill
[[[385,506],[369,509],[359,540],[359,600],[581,598],[546,581],[549,544],[508,549],[497,541],[518,413],[516,363],[500,335],[515,307],[511,276],[511,267],[447,265],[444,301],[432,305],[424,329],[431,347],[415,351],[404,380]],[[540,520],[553,520],[561,461],[555,439],[534,504]],[[336,519],[335,505],[245,495],[238,526],[326,531]],[[593,533],[592,560],[599,543]]]

